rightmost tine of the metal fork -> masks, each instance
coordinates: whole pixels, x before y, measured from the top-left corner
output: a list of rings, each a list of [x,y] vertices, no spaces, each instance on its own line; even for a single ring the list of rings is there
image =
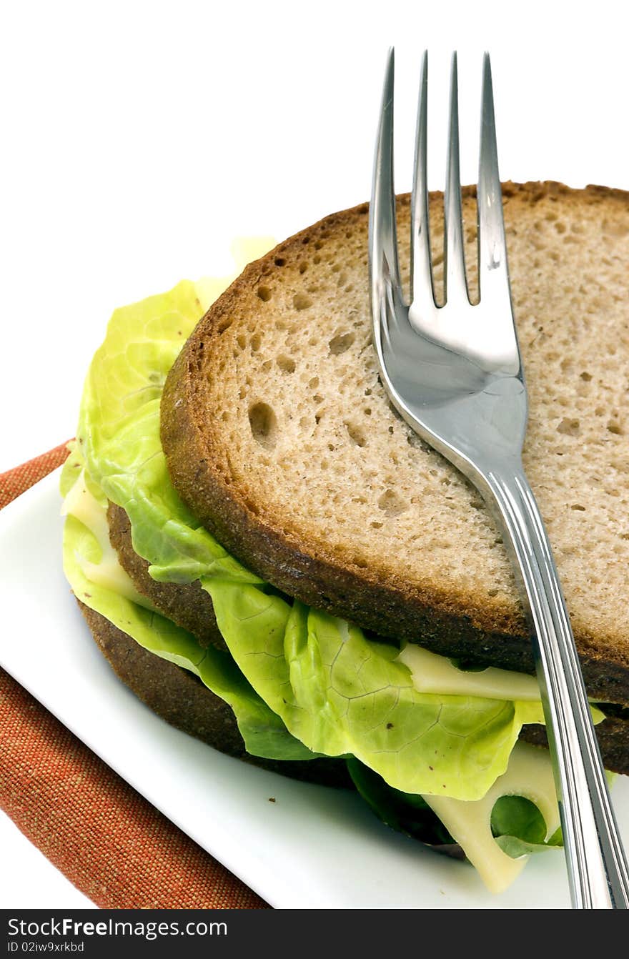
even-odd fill
[[[483,57],[480,153],[478,162],[478,286],[481,299],[501,298],[509,289],[498,171],[496,118],[489,54]]]

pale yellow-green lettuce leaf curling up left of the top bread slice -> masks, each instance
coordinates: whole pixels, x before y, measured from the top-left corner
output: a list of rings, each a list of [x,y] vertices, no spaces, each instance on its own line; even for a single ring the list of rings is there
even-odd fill
[[[155,579],[183,583],[224,571],[260,582],[181,502],[159,440],[166,375],[202,313],[188,281],[114,312],[83,387],[78,440],[91,478],[127,510],[133,547]]]

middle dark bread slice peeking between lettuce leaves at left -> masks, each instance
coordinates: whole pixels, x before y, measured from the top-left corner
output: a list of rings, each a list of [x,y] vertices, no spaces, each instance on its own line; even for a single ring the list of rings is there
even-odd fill
[[[121,506],[109,503],[107,524],[109,541],[138,593],[147,596],[155,609],[176,622],[177,626],[192,633],[203,648],[213,645],[226,649],[217,626],[212,600],[200,583],[160,583],[153,579],[149,573],[149,563],[133,549],[131,524]]]

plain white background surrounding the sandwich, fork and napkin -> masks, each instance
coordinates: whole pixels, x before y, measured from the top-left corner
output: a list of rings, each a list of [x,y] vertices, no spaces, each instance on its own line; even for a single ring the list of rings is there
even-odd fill
[[[391,44],[400,191],[425,47],[431,187],[456,48],[464,181],[488,49],[503,179],[629,189],[627,26],[607,2],[6,2],[0,472],[74,433],[114,307],[228,272],[235,236],[281,240],[368,199]],[[0,907],[88,904],[1,816],[0,849]]]

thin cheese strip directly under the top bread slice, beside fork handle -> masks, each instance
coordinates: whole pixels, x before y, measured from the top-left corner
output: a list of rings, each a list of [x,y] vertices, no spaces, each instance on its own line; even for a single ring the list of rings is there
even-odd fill
[[[419,692],[483,699],[540,700],[537,680],[524,672],[496,667],[466,672],[457,669],[446,656],[431,653],[415,643],[407,643],[397,658],[410,669],[413,686]]]

